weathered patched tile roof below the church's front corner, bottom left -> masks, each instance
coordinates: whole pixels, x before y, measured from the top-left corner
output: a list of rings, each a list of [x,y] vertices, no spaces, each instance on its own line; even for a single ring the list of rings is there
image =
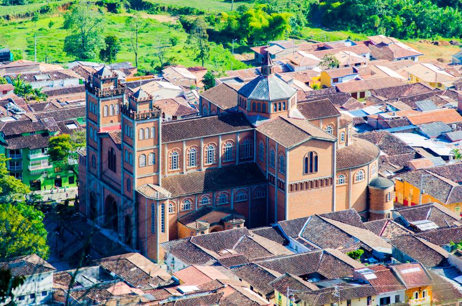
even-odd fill
[[[160,265],[152,263],[139,253],[106,257],[95,260],[95,263],[142,290],[172,283],[171,276]]]

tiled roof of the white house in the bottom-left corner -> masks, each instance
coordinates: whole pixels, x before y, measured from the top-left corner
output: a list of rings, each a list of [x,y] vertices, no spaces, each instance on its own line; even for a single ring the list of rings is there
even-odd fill
[[[2,270],[9,270],[14,277],[56,271],[51,264],[35,254],[6,259],[0,262],[0,268]]]

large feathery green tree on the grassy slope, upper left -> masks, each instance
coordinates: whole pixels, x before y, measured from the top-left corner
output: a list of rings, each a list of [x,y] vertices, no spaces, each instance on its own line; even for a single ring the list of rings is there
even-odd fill
[[[101,32],[104,29],[102,14],[87,3],[75,4],[64,15],[64,28],[71,30],[64,40],[64,52],[78,59],[93,59],[95,49],[101,45]]]

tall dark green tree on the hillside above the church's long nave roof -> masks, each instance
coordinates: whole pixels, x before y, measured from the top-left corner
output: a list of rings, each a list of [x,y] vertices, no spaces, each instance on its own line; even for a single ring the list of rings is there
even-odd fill
[[[196,61],[201,61],[204,66],[205,60],[210,56],[210,44],[208,43],[207,24],[204,18],[198,17],[186,40],[187,48],[195,55]]]

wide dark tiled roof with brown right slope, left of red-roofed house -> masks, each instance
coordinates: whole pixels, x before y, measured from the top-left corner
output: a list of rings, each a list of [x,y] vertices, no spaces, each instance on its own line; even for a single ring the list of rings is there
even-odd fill
[[[302,276],[318,272],[326,278],[353,275],[354,269],[364,267],[362,263],[331,249],[288,255],[256,263],[281,274]]]

